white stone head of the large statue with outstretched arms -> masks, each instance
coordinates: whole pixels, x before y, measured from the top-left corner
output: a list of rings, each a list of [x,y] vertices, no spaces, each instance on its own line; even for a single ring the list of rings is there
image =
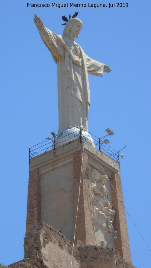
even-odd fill
[[[78,18],[68,20],[64,28],[63,35],[69,38],[72,33],[74,37],[79,37],[79,31],[81,30],[82,25],[82,21]]]

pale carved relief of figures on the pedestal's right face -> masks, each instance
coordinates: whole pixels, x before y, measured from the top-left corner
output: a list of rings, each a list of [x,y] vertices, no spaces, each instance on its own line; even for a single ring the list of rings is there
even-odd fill
[[[105,187],[105,182],[108,180],[108,177],[106,175],[101,176],[98,170],[92,169],[91,178],[93,181],[91,190],[94,224],[98,226],[101,231],[111,232],[113,230],[112,223],[114,222],[115,211],[112,210],[108,200],[108,191]]]

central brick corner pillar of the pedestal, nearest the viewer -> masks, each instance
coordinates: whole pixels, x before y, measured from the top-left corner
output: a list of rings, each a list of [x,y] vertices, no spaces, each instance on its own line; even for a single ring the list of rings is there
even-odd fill
[[[76,222],[81,166],[82,175]],[[89,196],[90,189],[91,186],[88,173],[88,155],[84,153],[82,163],[82,150],[78,150],[73,153],[73,237],[76,222],[75,237],[86,245],[95,244],[95,235],[92,224],[91,197]]]

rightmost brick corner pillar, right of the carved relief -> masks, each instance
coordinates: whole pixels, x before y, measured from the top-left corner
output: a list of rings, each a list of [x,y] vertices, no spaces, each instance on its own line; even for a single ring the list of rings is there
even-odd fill
[[[116,194],[113,187],[111,187],[112,208],[115,210],[114,230],[117,231],[117,239],[114,239],[115,249],[120,253],[122,259],[126,260],[128,263],[131,263],[126,215],[124,206],[122,205],[122,203],[124,204],[124,199],[120,175],[113,173],[111,184],[117,192]]]

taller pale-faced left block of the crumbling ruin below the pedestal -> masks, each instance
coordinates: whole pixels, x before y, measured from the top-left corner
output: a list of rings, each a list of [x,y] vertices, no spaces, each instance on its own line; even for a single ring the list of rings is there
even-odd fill
[[[37,224],[24,238],[24,259],[10,268],[69,268],[73,245],[65,236],[46,223]],[[79,250],[74,247],[72,267],[79,268]]]

